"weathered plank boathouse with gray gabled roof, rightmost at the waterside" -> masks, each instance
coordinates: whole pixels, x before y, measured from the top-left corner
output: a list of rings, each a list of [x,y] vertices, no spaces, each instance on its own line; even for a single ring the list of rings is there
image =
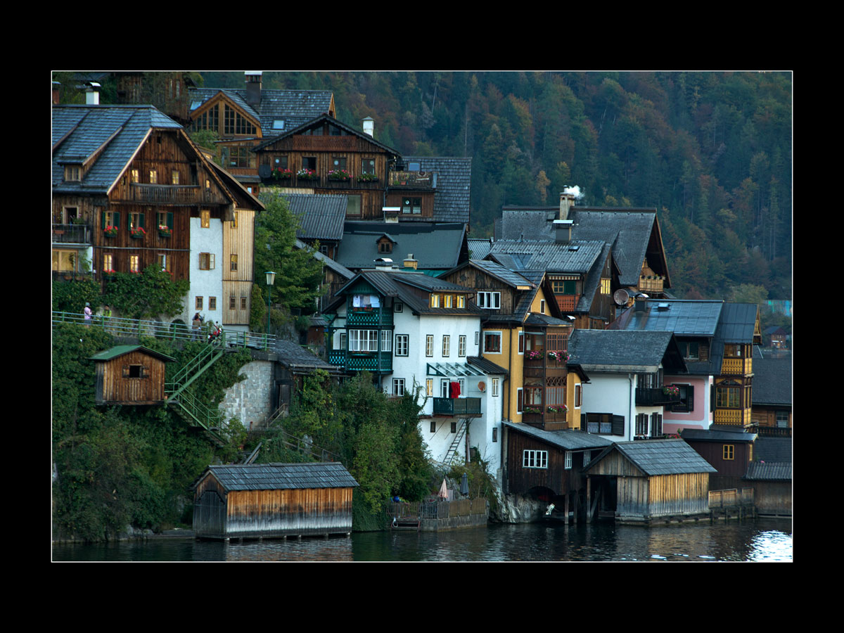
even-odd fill
[[[609,446],[585,472],[614,490],[601,509],[614,511],[616,522],[650,522],[708,512],[709,475],[717,471],[683,440],[646,440]]]

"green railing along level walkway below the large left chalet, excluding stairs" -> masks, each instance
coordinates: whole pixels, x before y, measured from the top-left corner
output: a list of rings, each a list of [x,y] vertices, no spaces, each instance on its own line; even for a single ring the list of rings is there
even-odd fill
[[[60,311],[53,311],[52,323],[53,325],[57,323],[77,323],[78,325],[103,327],[108,333],[123,338],[152,336],[155,338],[181,341],[208,341],[208,331],[211,327],[211,322],[206,322],[203,328],[194,330],[192,327],[183,323],[101,316],[94,316],[89,321],[85,321],[84,314]],[[227,347],[271,349],[275,347],[275,341],[276,338],[272,334],[240,332],[235,330],[225,332],[225,344]]]

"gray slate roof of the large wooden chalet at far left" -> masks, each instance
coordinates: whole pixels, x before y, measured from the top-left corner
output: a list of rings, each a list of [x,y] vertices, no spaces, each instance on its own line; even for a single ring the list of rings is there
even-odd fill
[[[53,191],[105,194],[153,128],[181,125],[153,106],[53,106]],[[81,181],[64,181],[65,164],[83,163],[100,149]]]

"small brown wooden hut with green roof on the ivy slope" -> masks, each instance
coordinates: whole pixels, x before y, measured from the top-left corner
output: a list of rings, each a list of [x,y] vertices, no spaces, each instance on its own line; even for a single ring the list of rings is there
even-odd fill
[[[91,356],[97,368],[95,403],[160,404],[165,401],[166,354],[143,345],[117,345]]]

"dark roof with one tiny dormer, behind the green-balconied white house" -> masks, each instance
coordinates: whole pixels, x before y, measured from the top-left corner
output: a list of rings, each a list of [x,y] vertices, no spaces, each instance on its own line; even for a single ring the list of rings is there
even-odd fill
[[[389,234],[395,246],[392,253],[378,252],[377,241]],[[372,268],[375,260],[390,257],[402,266],[413,253],[423,270],[449,270],[464,253],[466,225],[436,223],[346,222],[337,261],[346,268]]]

